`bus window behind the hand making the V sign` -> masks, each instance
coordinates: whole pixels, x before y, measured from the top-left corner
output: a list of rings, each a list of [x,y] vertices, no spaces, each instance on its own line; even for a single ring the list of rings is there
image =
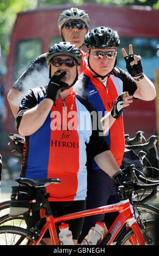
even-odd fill
[[[142,57],[143,71],[146,76],[154,80],[154,70],[159,69],[159,57],[157,56],[157,38],[131,38],[120,37],[120,47],[118,48],[117,66],[126,70],[126,63],[123,58],[122,48],[129,54],[129,45],[133,46],[133,53]],[[127,70],[126,70],[127,71]]]

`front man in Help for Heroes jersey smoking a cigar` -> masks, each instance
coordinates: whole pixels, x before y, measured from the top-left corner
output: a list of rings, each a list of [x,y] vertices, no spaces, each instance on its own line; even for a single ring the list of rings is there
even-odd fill
[[[50,82],[47,86],[29,90],[22,100],[16,124],[19,133],[26,138],[21,176],[56,177],[61,181],[57,186],[46,188],[53,216],[56,217],[85,209],[86,147],[108,175],[114,177],[115,174],[114,179],[123,179],[124,175],[107,143],[99,136],[99,129],[93,129],[90,114],[94,111],[93,106],[76,95],[72,88],[82,61],[80,50],[69,42],[60,42],[48,50],[46,60]],[[85,111],[89,129],[83,124],[81,114]],[[39,220],[39,211],[33,212],[33,216],[25,215],[25,219],[27,227],[33,227]],[[76,244],[83,218],[68,223]],[[50,243],[48,237],[49,234],[44,239],[47,244]]]

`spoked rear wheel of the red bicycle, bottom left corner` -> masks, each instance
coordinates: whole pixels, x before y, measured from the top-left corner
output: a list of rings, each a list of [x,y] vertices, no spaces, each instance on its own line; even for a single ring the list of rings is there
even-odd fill
[[[30,231],[13,226],[0,227],[0,245],[28,245]],[[13,240],[14,239],[14,240]],[[46,245],[40,241],[38,245]]]

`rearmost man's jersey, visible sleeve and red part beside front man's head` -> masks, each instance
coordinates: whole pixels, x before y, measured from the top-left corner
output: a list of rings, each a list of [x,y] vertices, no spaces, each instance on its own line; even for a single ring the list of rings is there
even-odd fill
[[[81,54],[82,63],[79,69],[79,74],[82,74],[87,65],[86,53],[81,50]],[[27,66],[27,69],[11,88],[15,88],[23,94],[26,94],[30,88],[43,86],[48,82],[48,66],[46,62],[46,53],[44,53],[36,57],[33,62]]]

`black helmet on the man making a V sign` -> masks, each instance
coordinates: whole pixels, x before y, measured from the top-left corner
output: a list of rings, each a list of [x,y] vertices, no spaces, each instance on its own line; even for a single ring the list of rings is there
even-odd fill
[[[113,31],[113,29],[97,27],[85,35],[84,45],[87,48],[118,48],[120,45],[120,39],[117,32]]]

